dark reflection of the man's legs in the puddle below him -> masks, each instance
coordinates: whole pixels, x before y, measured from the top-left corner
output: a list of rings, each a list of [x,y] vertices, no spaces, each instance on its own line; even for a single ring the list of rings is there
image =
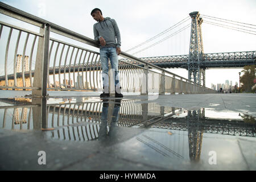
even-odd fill
[[[113,135],[117,127],[120,106],[121,100],[103,100],[99,138]]]

